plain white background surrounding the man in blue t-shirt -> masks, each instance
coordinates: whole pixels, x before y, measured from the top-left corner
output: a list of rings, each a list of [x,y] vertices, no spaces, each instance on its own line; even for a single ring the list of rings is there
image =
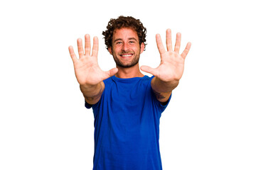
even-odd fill
[[[253,1],[8,1],[0,4],[0,169],[92,169],[93,114],[84,107],[68,46],[100,40],[110,18],[147,28],[140,64],[157,67],[155,35],[191,41],[186,68],[161,116],[163,169],[256,169]],[[77,52],[78,54],[78,52]]]

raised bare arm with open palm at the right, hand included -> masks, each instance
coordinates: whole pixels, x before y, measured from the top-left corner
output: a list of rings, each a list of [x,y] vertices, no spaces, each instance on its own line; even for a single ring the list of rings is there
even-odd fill
[[[176,43],[174,50],[171,43],[171,30],[166,30],[166,46],[167,51],[164,49],[164,45],[161,42],[160,35],[156,35],[156,44],[159,49],[161,63],[159,67],[153,69],[148,66],[142,66],[141,69],[144,72],[149,72],[155,77],[151,80],[151,87],[156,94],[156,98],[164,103],[168,101],[171,96],[171,92],[178,86],[178,82],[182,77],[184,70],[184,62],[186,55],[191,47],[191,42],[188,42],[185,50],[179,55],[181,46],[181,33],[176,35]]]

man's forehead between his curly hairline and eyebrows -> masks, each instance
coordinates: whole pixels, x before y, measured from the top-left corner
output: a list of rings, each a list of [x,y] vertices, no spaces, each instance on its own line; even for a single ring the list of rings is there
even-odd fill
[[[121,28],[121,29],[114,30],[113,40],[116,40],[119,38],[123,40],[129,39],[129,38],[135,38],[139,40],[137,32],[132,28]]]

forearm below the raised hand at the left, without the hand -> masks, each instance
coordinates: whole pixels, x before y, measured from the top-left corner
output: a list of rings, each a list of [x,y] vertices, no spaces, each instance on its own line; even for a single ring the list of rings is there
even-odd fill
[[[85,101],[91,105],[97,103],[105,89],[105,84],[101,81],[95,86],[80,85],[82,95],[85,97]]]

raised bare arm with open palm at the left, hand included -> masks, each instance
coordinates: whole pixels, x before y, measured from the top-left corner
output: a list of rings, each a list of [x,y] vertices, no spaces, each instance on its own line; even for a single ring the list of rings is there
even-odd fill
[[[97,52],[99,42],[97,37],[93,38],[92,55],[90,55],[90,35],[85,35],[85,52],[82,47],[82,40],[78,39],[79,59],[75,56],[73,47],[68,47],[70,56],[73,60],[75,77],[80,84],[85,101],[93,105],[100,100],[105,89],[103,80],[112,77],[117,73],[118,69],[113,68],[108,72],[103,72],[97,63]]]

